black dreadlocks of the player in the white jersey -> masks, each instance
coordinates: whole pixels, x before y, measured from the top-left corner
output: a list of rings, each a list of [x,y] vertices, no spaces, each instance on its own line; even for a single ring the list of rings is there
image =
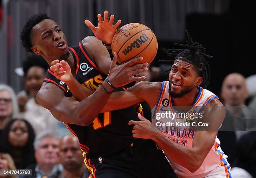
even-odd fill
[[[186,45],[177,44],[174,45],[180,47],[180,49],[164,49],[166,53],[172,57],[175,57],[175,60],[183,60],[192,64],[200,77],[203,78],[201,86],[207,88],[210,84],[210,67],[207,63],[207,58],[212,58],[210,55],[205,54],[205,48],[197,42],[193,42],[191,36],[187,33]],[[174,62],[173,60],[161,60],[161,62]]]

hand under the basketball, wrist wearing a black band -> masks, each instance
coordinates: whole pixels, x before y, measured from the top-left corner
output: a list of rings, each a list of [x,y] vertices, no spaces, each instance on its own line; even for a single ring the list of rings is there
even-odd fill
[[[134,76],[148,70],[148,63],[137,64],[143,59],[142,57],[131,59],[122,65],[116,65],[117,59],[118,55],[117,53],[114,53],[114,58],[110,65],[110,70],[107,77],[114,87],[122,87],[133,81],[141,81],[146,78],[145,76]]]

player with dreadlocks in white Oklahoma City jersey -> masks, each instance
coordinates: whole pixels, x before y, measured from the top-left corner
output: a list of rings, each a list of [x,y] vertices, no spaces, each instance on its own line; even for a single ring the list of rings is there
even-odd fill
[[[176,56],[169,81],[143,81],[125,92],[115,92],[102,112],[146,101],[153,113],[152,124],[138,114],[140,121],[129,122],[129,125],[133,125],[134,138],[154,140],[164,151],[178,177],[230,178],[227,156],[217,138],[225,108],[216,95],[205,89],[210,80],[206,58],[211,56],[206,55],[204,47],[193,42],[188,33],[187,36],[188,44],[181,45],[182,49],[167,50],[170,55]],[[182,112],[192,113],[191,116],[197,113],[198,116],[195,119],[187,115],[166,115]],[[202,117],[199,117],[200,113]]]

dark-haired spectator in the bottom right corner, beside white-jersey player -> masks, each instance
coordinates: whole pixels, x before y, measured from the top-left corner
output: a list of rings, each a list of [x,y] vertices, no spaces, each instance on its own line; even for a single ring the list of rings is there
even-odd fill
[[[233,178],[256,177],[256,132],[248,132],[236,143],[236,160],[231,169]]]

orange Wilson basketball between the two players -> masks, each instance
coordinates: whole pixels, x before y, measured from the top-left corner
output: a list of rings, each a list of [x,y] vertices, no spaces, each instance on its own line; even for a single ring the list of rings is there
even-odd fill
[[[157,53],[156,36],[150,28],[140,23],[129,23],[121,27],[112,40],[112,53],[118,54],[118,63],[143,57],[139,63],[151,63]]]

